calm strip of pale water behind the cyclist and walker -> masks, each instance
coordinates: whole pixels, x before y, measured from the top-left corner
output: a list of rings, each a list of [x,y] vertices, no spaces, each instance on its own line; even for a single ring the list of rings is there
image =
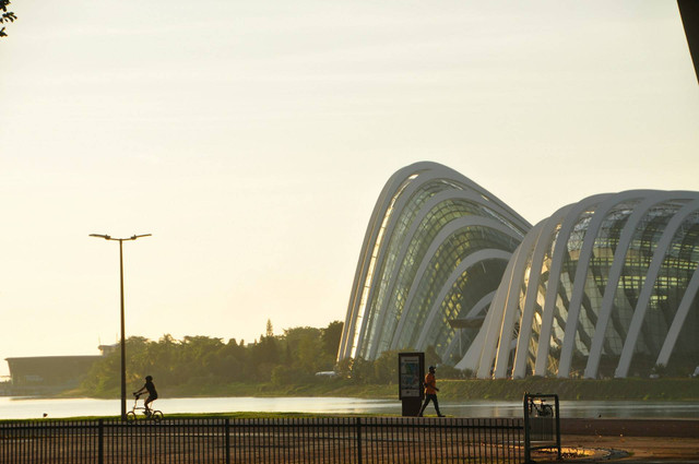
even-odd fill
[[[364,400],[355,397],[208,397],[161,398],[156,407],[165,415],[177,413],[319,413],[401,415],[399,400]],[[129,401],[127,408],[133,405]],[[522,402],[441,401],[442,413],[453,417],[522,417]],[[43,417],[118,416],[119,400],[0,396],[0,419]],[[431,415],[431,405],[427,408]],[[605,418],[694,418],[699,419],[699,402],[607,402],[561,401],[560,417]]]

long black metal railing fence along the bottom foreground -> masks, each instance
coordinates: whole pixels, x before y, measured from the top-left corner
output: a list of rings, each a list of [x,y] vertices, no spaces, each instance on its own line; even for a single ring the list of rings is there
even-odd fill
[[[0,463],[522,463],[521,419],[182,418],[0,423]]]

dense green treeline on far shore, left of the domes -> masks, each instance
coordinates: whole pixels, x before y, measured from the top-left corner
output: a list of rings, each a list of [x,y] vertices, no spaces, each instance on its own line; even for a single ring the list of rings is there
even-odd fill
[[[179,394],[222,394],[226,385],[235,384],[310,382],[317,379],[316,372],[334,369],[342,326],[334,321],[322,329],[294,328],[273,335],[268,322],[266,335],[248,344],[210,336],[176,340],[164,335],[157,342],[132,336],[126,343],[127,389],[142,386],[145,376],[153,376],[158,391]],[[91,396],[118,396],[120,359],[117,349],[95,362],[81,391]]]

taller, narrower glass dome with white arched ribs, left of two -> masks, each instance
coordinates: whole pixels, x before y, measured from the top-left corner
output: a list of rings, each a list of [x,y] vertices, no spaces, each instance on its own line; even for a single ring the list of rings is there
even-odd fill
[[[433,346],[442,359],[460,360],[530,228],[446,166],[416,163],[395,172],[362,246],[339,359]],[[455,330],[455,320],[471,329]]]

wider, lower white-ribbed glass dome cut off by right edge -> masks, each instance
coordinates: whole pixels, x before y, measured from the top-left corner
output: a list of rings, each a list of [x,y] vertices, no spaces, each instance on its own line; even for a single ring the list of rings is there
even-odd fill
[[[479,378],[699,365],[699,192],[590,197],[530,230],[457,365]]]

